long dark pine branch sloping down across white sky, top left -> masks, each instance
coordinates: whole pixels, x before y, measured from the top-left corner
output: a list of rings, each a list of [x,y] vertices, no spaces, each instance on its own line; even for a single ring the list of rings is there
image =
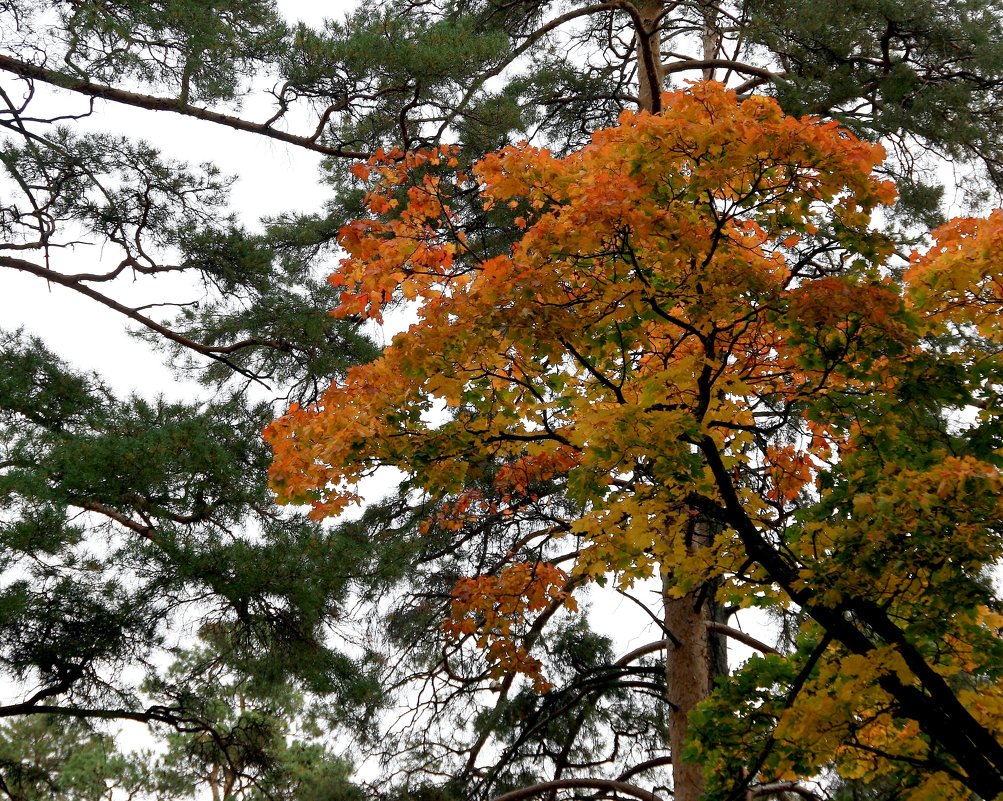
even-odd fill
[[[271,127],[270,122],[252,122],[243,117],[232,114],[224,114],[219,111],[212,111],[208,108],[192,105],[184,99],[174,97],[159,97],[153,94],[142,94],[140,92],[130,92],[104,83],[95,83],[87,78],[79,78],[67,75],[54,69],[21,61],[8,55],[0,54],[0,70],[11,72],[19,77],[28,80],[38,80],[50,86],[66,89],[77,94],[88,97],[96,97],[102,100],[110,100],[122,105],[130,105],[136,108],[144,108],[149,111],[171,111],[182,116],[194,117],[218,125],[225,125],[235,130],[243,130],[248,133],[256,133],[260,136],[267,136],[270,139],[294,144],[306,150],[329,155],[336,158],[366,159],[369,153],[363,150],[346,150],[341,145],[332,146],[317,141],[310,136],[301,136],[288,131]]]

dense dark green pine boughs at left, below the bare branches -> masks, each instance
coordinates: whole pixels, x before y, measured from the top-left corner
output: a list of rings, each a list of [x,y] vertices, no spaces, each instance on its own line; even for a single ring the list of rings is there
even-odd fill
[[[119,674],[152,677],[191,616],[224,664],[368,703],[324,638],[367,546],[271,505],[268,404],[118,399],[20,333],[0,362],[0,665],[36,688],[0,712],[186,720]]]

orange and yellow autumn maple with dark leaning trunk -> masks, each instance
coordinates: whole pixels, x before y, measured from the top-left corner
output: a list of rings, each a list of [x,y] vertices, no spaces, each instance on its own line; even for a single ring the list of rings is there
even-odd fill
[[[427,526],[532,529],[457,584],[445,625],[541,689],[528,633],[592,581],[800,610],[790,653],[696,716],[711,790],[835,766],[991,797],[1003,213],[906,264],[871,227],[895,198],[880,146],[716,84],[664,107],[566,157],[360,165],[372,216],[341,232],[334,314],[403,301],[418,320],[269,426],[273,487],[333,515],[392,465]],[[505,221],[493,240],[454,211],[471,191]]]

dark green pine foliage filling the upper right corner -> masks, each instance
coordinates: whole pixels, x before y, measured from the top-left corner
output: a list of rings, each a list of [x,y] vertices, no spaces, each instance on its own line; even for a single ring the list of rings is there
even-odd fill
[[[976,167],[975,206],[1003,185],[1000,5],[812,0],[746,5],[750,42],[778,66],[771,91],[791,113],[832,116],[892,149],[912,212],[936,221],[941,178],[926,157]]]

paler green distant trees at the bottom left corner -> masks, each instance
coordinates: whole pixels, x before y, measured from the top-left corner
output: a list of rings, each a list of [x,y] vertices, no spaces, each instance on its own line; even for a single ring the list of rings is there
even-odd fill
[[[301,694],[224,673],[215,653],[193,651],[159,686],[146,688],[161,701],[189,694],[205,721],[188,732],[156,730],[155,750],[123,753],[115,737],[79,719],[8,721],[0,791],[11,801],[361,798],[348,781],[352,766],[321,742],[323,729],[305,714]]]

